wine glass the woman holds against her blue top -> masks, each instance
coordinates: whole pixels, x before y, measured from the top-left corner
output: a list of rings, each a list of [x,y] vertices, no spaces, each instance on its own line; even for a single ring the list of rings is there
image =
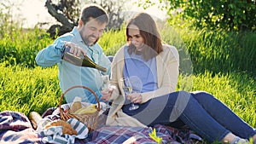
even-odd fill
[[[122,89],[124,89],[125,96],[131,94],[132,92],[132,86],[129,78],[120,78]],[[139,106],[135,105],[134,103],[131,103],[131,107],[129,107],[129,110],[136,110]]]

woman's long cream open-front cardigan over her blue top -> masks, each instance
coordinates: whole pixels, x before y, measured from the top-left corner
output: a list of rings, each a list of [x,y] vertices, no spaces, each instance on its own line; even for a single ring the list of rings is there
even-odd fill
[[[124,48],[118,50],[113,58],[111,66],[111,84],[113,85],[112,107],[109,110],[107,125],[143,126],[136,118],[132,118],[122,112],[125,102],[123,89],[119,89],[119,79],[123,77],[124,69]],[[178,78],[179,55],[177,49],[170,45],[163,45],[163,52],[156,56],[158,88],[154,91],[143,93],[143,103],[161,95],[169,94],[176,90]],[[135,70],[135,71],[139,71]]]

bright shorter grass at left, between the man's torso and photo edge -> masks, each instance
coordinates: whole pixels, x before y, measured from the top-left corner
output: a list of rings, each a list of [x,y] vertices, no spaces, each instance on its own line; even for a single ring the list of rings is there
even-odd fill
[[[0,66],[0,111],[43,113],[57,107],[61,96],[56,66],[29,69],[21,66]]]

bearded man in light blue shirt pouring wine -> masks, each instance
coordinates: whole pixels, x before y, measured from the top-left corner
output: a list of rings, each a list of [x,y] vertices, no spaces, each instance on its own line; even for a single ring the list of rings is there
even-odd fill
[[[86,5],[79,18],[79,26],[75,26],[72,32],[68,32],[55,39],[55,42],[40,50],[36,56],[39,66],[53,66],[56,63],[59,68],[59,80],[62,92],[74,85],[83,85],[96,92],[100,99],[102,87],[102,75],[109,75],[111,62],[104,55],[102,47],[97,43],[108,25],[108,14],[104,9],[95,4]],[[70,48],[73,55],[87,55],[96,64],[106,67],[108,72],[100,72],[94,68],[74,66],[62,60],[61,56],[65,48]],[[96,103],[95,96],[87,89],[72,89],[65,95],[67,102],[72,102],[79,96],[82,101]]]

